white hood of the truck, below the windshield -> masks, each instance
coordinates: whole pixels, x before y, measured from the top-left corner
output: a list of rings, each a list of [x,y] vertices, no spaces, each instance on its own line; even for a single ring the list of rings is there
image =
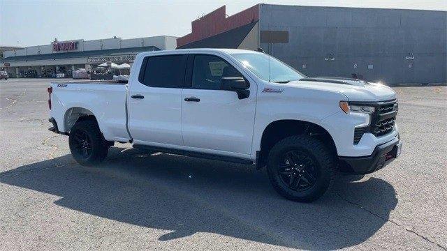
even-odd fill
[[[342,93],[349,101],[376,102],[396,98],[395,91],[390,87],[359,79],[316,77],[289,82],[288,85],[298,88]]]

